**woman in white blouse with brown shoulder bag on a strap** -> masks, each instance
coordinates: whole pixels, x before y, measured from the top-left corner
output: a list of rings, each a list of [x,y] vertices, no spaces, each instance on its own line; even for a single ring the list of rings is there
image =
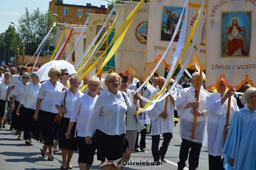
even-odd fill
[[[74,138],[75,127],[72,129],[72,135],[70,139],[66,139],[65,133],[67,131],[69,120],[71,118],[71,112],[74,106],[74,101],[76,100],[76,98],[83,95],[83,93],[79,91],[79,85],[80,78],[78,76],[70,77],[71,88],[62,91],[55,105],[57,110],[59,110],[59,113],[64,114],[61,119],[61,124],[59,125],[59,148],[61,149],[62,155],[61,169],[66,169],[66,167],[68,169],[72,169],[70,161],[74,151],[77,151],[76,140]],[[63,108],[62,105],[64,103],[65,94],[65,108]]]

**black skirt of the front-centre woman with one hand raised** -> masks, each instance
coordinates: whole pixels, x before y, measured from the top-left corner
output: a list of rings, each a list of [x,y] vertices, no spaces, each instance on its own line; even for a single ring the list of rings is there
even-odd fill
[[[95,132],[97,144],[97,160],[117,160],[122,158],[125,147],[125,134],[108,135],[99,129]]]

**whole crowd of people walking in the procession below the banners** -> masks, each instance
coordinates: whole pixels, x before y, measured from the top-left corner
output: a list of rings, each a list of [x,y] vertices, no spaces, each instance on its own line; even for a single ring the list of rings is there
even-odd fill
[[[227,90],[227,81],[221,79],[216,83],[216,92],[209,93],[201,86],[199,72],[195,72],[191,82],[184,79],[151,110],[135,114],[147,104],[141,96],[151,99],[164,90],[162,98],[176,77],[166,89],[166,79],[160,76],[136,92],[144,82],[130,72],[112,72],[105,79],[101,74],[85,76],[81,83],[80,77],[69,75],[67,69],[52,67],[44,82],[26,66],[20,67],[19,74],[15,67],[3,71],[0,67],[0,127],[6,128],[9,122],[10,130],[17,132],[17,140],[24,139],[28,146],[33,145],[33,139],[40,141],[39,153],[43,158],[48,155],[48,161],[54,161],[54,152],[61,154],[61,169],[73,168],[70,162],[74,151],[79,154],[80,170],[91,168],[96,149],[101,163],[122,157],[129,161],[133,151],[146,151],[147,134],[152,136],[154,161],[166,162],[175,117],[180,119],[182,138],[178,170],[186,167],[187,159],[189,170],[197,169],[202,147],[208,149],[209,170],[255,169],[256,88],[250,84],[245,84],[244,94],[235,98],[233,89]],[[86,89],[80,92],[84,85]],[[228,112],[230,125],[226,124]],[[160,135],[163,142],[159,148]],[[100,168],[116,169],[112,165]]]

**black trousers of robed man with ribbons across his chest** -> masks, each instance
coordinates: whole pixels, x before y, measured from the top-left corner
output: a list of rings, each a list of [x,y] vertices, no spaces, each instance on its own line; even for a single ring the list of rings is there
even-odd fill
[[[168,146],[170,144],[171,138],[173,138],[172,133],[164,133],[164,134],[162,134],[162,136],[164,137],[164,141],[159,150],[158,150],[158,146],[159,146],[159,142],[160,142],[160,135],[152,136],[151,151],[152,151],[152,155],[154,157],[154,161],[160,160],[160,157],[164,158],[164,156],[167,152]]]

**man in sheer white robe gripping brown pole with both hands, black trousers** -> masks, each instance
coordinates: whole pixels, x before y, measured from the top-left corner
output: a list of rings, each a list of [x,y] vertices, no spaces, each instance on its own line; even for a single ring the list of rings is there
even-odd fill
[[[206,97],[208,96],[208,93],[201,87],[199,102],[196,102],[198,84],[199,72],[194,72],[192,74],[192,86],[182,89],[175,101],[178,115],[180,115],[180,136],[182,138],[178,170],[182,170],[186,166],[185,162],[187,161],[188,156],[189,170],[195,170],[199,163],[199,155],[207,120]],[[198,108],[198,110],[195,111],[195,108]],[[195,136],[194,139],[191,139],[194,115],[197,116],[197,120],[195,125]]]

